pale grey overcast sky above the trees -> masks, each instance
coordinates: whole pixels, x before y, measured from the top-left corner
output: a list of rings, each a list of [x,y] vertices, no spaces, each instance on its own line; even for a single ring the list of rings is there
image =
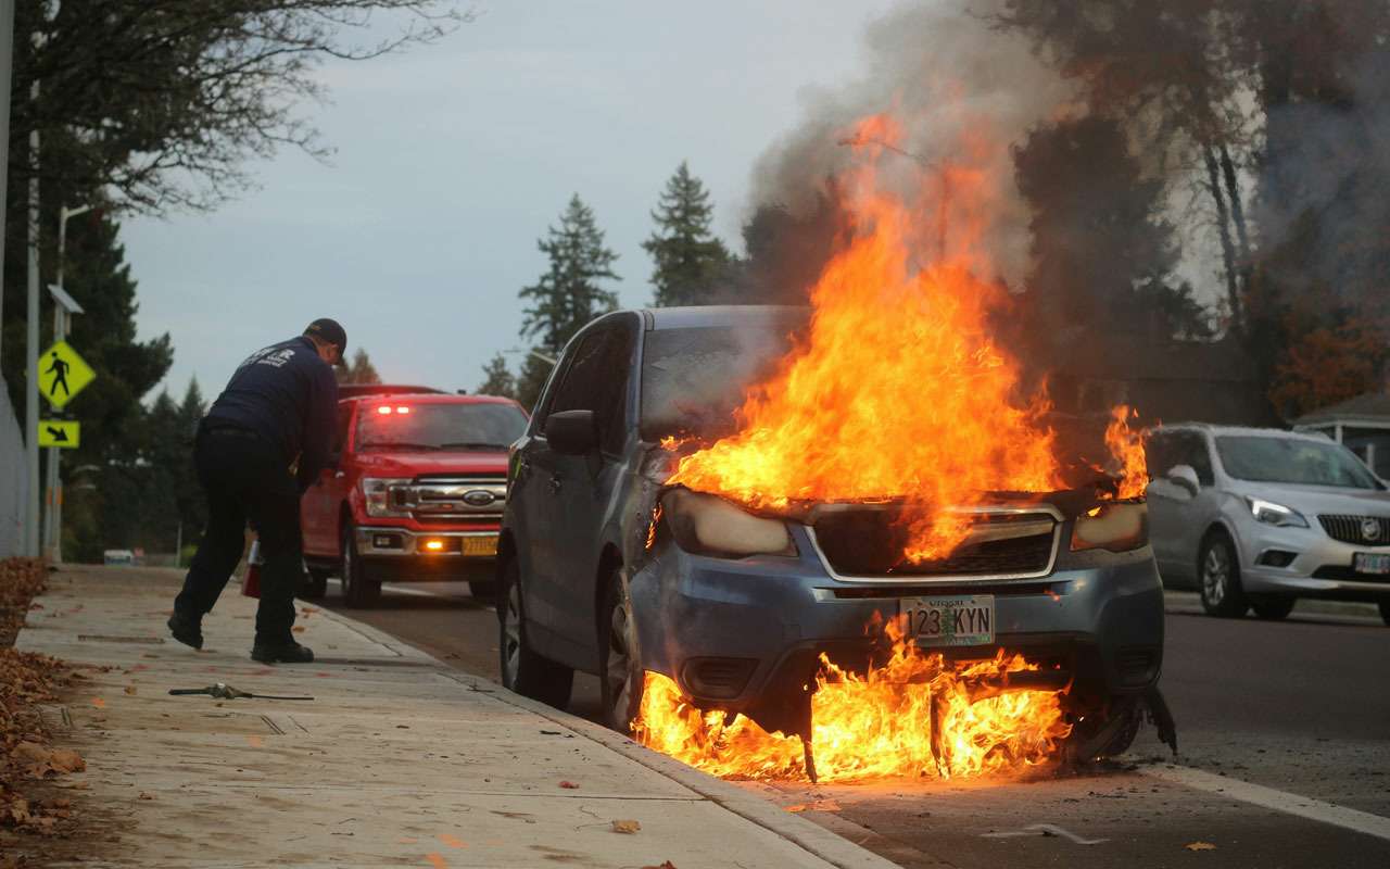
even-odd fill
[[[624,306],[651,300],[641,242],[681,160],[738,245],[752,167],[817,86],[860,74],[891,0],[698,4],[523,0],[438,44],[322,70],[307,107],[332,165],[286,152],[261,189],[210,216],[128,220],[143,338],[170,332],[175,396],[221,391],[249,352],[338,318],[386,381],[473,389],[521,346],[517,291],[571,193],[620,259]],[[510,355],[516,368],[520,356]]]

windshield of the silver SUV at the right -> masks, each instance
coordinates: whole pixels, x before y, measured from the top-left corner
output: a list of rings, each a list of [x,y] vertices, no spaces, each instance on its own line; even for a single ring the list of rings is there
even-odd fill
[[[1216,438],[1226,473],[1251,482],[1294,482],[1379,489],[1366,466],[1344,446],[1302,438],[1227,435]]]

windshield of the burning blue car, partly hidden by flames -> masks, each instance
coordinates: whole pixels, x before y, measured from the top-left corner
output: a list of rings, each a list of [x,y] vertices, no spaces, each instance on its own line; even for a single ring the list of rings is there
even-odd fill
[[[749,387],[777,371],[805,314],[790,311],[741,325],[655,330],[642,350],[644,441],[720,437]]]

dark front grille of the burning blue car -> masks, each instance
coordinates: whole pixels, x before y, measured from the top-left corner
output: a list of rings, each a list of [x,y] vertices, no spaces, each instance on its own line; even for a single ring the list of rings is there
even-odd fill
[[[1058,523],[1042,512],[980,512],[970,539],[949,556],[920,565],[902,558],[908,531],[899,509],[826,513],[810,531],[840,576],[1030,578],[1052,571]]]

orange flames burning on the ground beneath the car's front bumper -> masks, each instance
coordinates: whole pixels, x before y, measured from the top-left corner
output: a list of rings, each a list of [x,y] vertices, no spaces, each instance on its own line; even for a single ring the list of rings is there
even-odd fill
[[[1001,649],[988,660],[951,663],[903,640],[895,623],[888,631],[892,658],[866,676],[820,659],[810,699],[819,780],[1016,773],[1047,762],[1070,734],[1058,691],[980,698],[988,680],[1038,669],[1022,655]],[[716,776],[806,776],[798,737],[769,734],[742,715],[726,726],[723,712],[702,713],[657,673],[646,674],[632,733],[642,745]]]

